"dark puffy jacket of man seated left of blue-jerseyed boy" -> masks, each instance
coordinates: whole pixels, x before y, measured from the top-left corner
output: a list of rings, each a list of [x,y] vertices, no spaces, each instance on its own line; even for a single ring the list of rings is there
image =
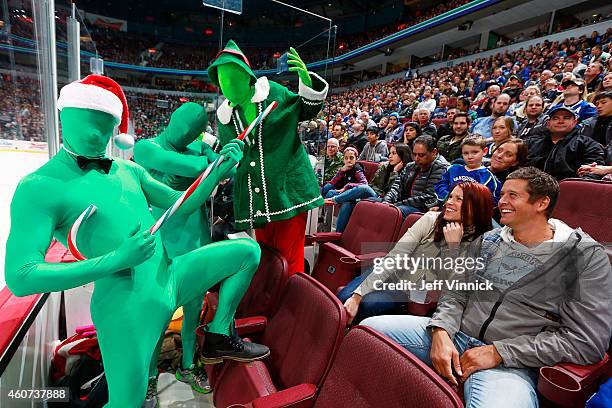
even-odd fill
[[[427,212],[438,201],[434,186],[442,179],[448,166],[442,155],[438,155],[429,169],[424,172],[420,171],[415,162],[408,163],[393,182],[383,201],[395,205],[409,205]]]

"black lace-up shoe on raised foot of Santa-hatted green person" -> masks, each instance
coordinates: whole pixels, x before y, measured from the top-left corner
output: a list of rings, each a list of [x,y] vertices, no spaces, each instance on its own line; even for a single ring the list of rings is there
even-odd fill
[[[236,335],[209,333],[204,335],[202,362],[218,364],[223,360],[234,360],[243,363],[262,360],[270,355],[270,349],[263,344],[250,343]]]

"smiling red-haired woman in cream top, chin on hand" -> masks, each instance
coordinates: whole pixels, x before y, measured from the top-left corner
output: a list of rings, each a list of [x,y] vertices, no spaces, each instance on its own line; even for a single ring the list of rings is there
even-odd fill
[[[403,290],[405,282],[415,289],[421,281],[446,278],[459,263],[454,262],[465,251],[460,244],[474,241],[492,229],[493,199],[482,184],[455,184],[442,211],[424,214],[400,238],[385,258],[375,260],[374,267],[338,293],[344,302],[350,322],[359,323],[370,316],[405,313],[405,305],[416,292]],[[400,283],[400,290],[384,290],[389,283]],[[429,296],[431,298],[431,296]]]

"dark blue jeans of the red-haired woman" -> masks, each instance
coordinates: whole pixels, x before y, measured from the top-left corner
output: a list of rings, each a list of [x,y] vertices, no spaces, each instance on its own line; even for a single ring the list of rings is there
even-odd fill
[[[372,273],[372,268],[363,271],[361,275],[350,281],[340,292],[338,292],[338,299],[340,299],[342,303],[346,302],[346,300],[353,295],[355,289],[366,280],[370,273]],[[368,293],[361,299],[359,310],[353,319],[353,323],[359,324],[363,319],[371,316],[405,313],[405,307],[408,300],[409,296],[407,293],[397,290],[377,290]]]

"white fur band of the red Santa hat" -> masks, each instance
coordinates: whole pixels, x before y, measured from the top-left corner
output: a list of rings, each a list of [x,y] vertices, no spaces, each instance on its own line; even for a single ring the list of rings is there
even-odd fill
[[[117,123],[121,123],[123,104],[121,100],[106,89],[96,85],[72,82],[60,90],[57,108],[93,109],[113,115]]]

